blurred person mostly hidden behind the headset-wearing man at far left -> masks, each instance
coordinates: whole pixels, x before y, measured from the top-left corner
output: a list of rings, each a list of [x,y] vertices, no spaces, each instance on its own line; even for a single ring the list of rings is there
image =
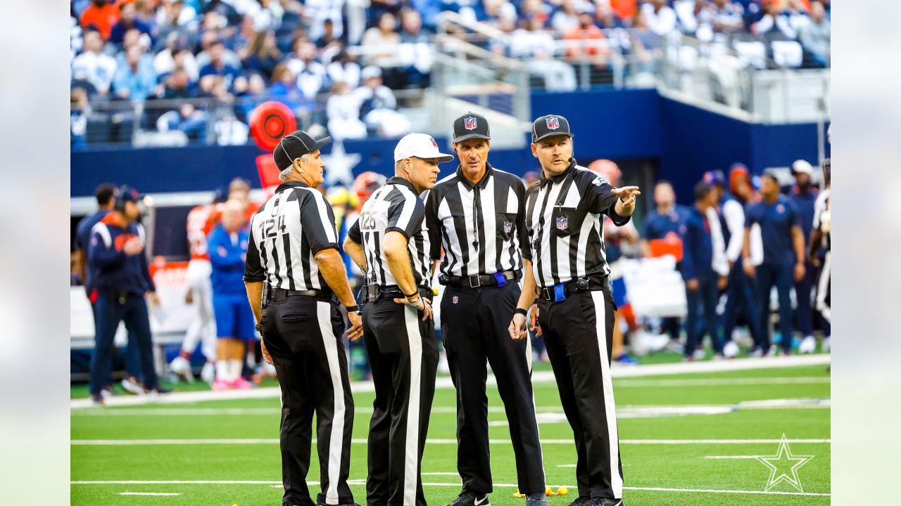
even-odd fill
[[[97,189],[94,192],[97,201],[97,212],[90,216],[86,216],[78,222],[75,235],[77,271],[81,276],[82,283],[85,285],[87,300],[91,303],[95,328],[97,325],[95,305],[97,293],[94,286],[96,269],[90,267],[87,263],[87,248],[91,239],[91,230],[94,229],[94,225],[96,225],[98,221],[103,220],[104,217],[113,210],[115,196],[118,191],[119,189],[112,183],[104,183],[103,185],[97,186]],[[141,382],[138,380],[141,376],[141,358],[138,356],[137,340],[134,339],[132,335],[129,335],[128,344],[125,347],[125,372],[126,376],[122,380],[123,389],[128,393],[143,393]],[[106,385],[101,393],[105,396],[113,395],[113,385]]]

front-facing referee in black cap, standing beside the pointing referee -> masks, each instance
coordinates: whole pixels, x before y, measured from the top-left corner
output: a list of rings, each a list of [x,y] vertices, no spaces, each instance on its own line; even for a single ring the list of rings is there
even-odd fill
[[[426,197],[432,260],[441,260],[441,336],[457,388],[457,469],[463,487],[451,506],[487,506],[492,492],[488,456],[486,361],[509,420],[519,490],[527,506],[546,505],[542,447],[532,399],[528,340],[508,339],[528,258],[525,185],[491,167],[488,122],[466,113],[453,123],[460,166]],[[441,258],[441,249],[444,256]],[[525,261],[529,267],[528,260]],[[528,282],[527,282],[528,283]],[[534,285],[524,288],[533,293]]]

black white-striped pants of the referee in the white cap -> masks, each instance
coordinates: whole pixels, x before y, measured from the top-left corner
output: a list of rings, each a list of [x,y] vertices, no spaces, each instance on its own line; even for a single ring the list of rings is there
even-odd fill
[[[369,422],[369,506],[424,506],[421,465],[435,394],[434,321],[386,297],[363,310],[376,389]]]

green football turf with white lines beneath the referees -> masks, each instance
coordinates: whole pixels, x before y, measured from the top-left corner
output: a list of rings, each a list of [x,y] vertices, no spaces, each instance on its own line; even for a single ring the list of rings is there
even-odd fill
[[[686,370],[628,377],[614,370],[626,504],[830,502],[826,366]],[[565,506],[576,498],[576,452],[556,385],[548,379],[543,373],[535,383],[543,462],[554,490],[569,487],[569,495],[549,502]],[[73,409],[71,503],[280,505],[278,398],[202,395],[210,400]],[[361,504],[372,398],[365,391],[355,394],[350,483]],[[521,505],[513,497],[513,448],[496,388],[488,387],[488,398],[495,483],[490,500]],[[432,505],[443,506],[460,492],[455,423],[454,391],[439,387],[423,457]],[[315,452],[312,467],[308,480],[314,483]],[[318,492],[318,485],[311,484],[311,491]]]

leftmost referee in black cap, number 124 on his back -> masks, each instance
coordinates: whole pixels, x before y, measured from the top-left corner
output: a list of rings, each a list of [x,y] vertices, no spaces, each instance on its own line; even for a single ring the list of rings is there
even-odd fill
[[[316,186],[329,142],[294,131],[272,153],[283,181],[250,222],[244,283],[258,322],[263,357],[282,391],[279,433],[283,504],[312,505],[306,487],[313,413],[322,492],[316,504],[352,504],[350,436],[353,397],[341,332],[347,307],[350,340],[362,335],[359,307],[338,253],[332,206]]]

